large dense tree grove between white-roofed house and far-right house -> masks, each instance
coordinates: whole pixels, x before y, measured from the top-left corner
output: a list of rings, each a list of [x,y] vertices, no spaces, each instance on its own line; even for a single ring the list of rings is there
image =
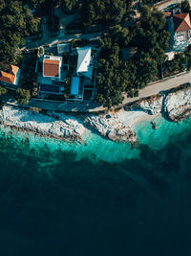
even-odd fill
[[[158,79],[170,35],[165,31],[161,12],[151,12],[146,6],[140,12],[137,27],[129,30],[117,25],[101,39],[96,98],[101,105],[118,105],[123,100],[122,92],[126,91],[129,97],[136,96],[138,88]],[[128,60],[122,60],[119,49],[130,46],[136,46],[138,52]]]

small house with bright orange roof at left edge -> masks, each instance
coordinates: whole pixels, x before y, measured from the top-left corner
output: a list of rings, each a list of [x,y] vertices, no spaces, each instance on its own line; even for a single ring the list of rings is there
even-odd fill
[[[15,65],[11,65],[9,72],[0,71],[0,83],[6,87],[16,88],[19,77],[20,69]]]

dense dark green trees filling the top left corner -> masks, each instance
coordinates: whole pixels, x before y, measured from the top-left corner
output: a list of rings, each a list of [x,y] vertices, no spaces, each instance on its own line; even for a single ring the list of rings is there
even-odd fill
[[[39,9],[45,0],[0,0],[0,59],[16,61],[17,46],[23,38],[38,32],[39,19],[30,8]],[[30,7],[30,8],[29,8]]]

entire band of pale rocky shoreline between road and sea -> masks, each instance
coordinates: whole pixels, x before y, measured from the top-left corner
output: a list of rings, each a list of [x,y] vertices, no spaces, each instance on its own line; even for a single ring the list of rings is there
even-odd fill
[[[191,86],[142,99],[133,105],[125,105],[106,114],[67,115],[48,111],[38,113],[12,106],[2,106],[0,124],[5,127],[33,132],[67,142],[84,143],[88,130],[116,142],[138,144],[133,129],[135,123],[163,113],[173,122],[191,114]]]

